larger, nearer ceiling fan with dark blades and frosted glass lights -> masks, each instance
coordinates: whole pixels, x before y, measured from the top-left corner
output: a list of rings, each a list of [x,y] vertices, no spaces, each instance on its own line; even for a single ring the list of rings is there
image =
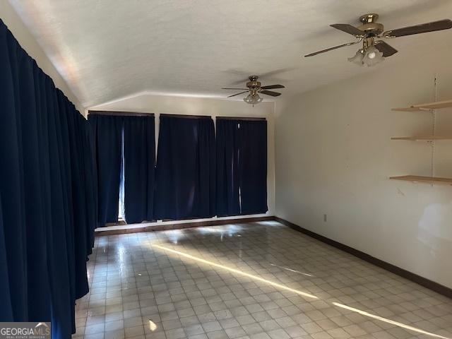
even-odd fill
[[[342,30],[343,32],[353,35],[357,40],[322,49],[321,51],[307,54],[304,57],[313,57],[314,55],[329,52],[333,49],[362,42],[362,48],[358,49],[355,57],[348,58],[348,61],[358,64],[359,66],[374,66],[383,61],[384,58],[391,57],[391,55],[398,52],[397,49],[391,47],[391,45],[383,40],[375,40],[376,38],[386,37],[391,39],[393,37],[403,37],[405,35],[434,32],[436,30],[448,30],[449,28],[452,28],[452,20],[444,19],[431,23],[422,23],[421,25],[399,28],[397,30],[387,30],[385,32],[383,25],[381,23],[376,23],[378,18],[378,14],[369,13],[359,17],[359,21],[362,25],[359,25],[358,27],[348,25],[347,23],[335,23],[331,25],[331,27],[337,30]]]

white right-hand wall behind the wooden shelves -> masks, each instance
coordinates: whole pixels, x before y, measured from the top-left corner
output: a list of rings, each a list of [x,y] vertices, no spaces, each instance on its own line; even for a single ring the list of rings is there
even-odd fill
[[[452,50],[394,60],[277,102],[275,214],[452,287],[452,187],[388,179],[431,174],[429,143],[390,138],[431,135],[432,114],[391,107],[434,101],[435,75],[452,99]],[[436,135],[452,136],[452,109]],[[436,141],[434,174],[452,177],[452,141]]]

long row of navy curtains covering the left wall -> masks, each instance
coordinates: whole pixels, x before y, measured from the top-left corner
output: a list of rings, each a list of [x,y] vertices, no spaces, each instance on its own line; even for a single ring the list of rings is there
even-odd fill
[[[95,225],[88,125],[1,20],[0,88],[0,320],[70,338]]]

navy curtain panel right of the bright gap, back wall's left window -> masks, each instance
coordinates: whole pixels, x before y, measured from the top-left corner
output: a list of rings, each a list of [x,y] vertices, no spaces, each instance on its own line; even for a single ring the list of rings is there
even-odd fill
[[[124,211],[128,224],[153,220],[154,116],[124,117]]]

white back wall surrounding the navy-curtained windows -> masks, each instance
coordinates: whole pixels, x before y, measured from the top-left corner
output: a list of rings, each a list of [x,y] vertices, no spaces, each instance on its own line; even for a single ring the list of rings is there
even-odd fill
[[[160,114],[190,114],[209,115],[215,121],[215,117],[265,117],[267,119],[268,133],[268,169],[267,169],[267,194],[268,212],[263,215],[275,213],[275,151],[274,151],[274,102],[261,102],[252,107],[242,100],[223,100],[218,98],[181,97],[171,95],[137,95],[135,97],[117,100],[105,105],[91,107],[92,110],[145,112],[155,114],[155,133],[158,138],[158,126]],[[263,215],[252,215],[263,216]],[[244,218],[228,217],[220,219]],[[214,218],[217,219],[217,218]],[[209,219],[203,219],[209,220]],[[192,222],[193,220],[188,220]],[[161,222],[159,222],[161,223]],[[165,223],[165,222],[163,222]],[[172,222],[171,222],[172,223]],[[153,225],[153,224],[150,224]]]

